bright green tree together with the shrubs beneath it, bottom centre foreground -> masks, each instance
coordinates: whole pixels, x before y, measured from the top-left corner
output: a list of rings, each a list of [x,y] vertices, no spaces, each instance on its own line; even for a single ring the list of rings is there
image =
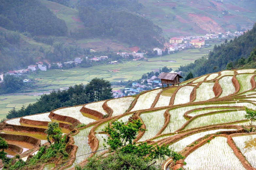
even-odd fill
[[[131,120],[128,124],[115,121],[105,128],[105,132],[109,135],[107,144],[110,146],[113,154],[107,157],[93,157],[88,159],[88,163],[81,168],[76,166],[76,170],[99,170],[99,169],[133,169],[137,170],[160,170],[159,165],[155,165],[156,160],[164,160],[165,155],[173,160],[184,159],[182,155],[169,149],[168,146],[148,145],[140,143],[136,145],[133,140],[139,131],[145,131],[141,128],[140,120]]]

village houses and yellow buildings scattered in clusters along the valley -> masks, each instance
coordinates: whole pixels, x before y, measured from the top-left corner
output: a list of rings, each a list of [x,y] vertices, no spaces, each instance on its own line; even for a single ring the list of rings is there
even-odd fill
[[[218,33],[218,34],[206,34],[204,36],[180,36],[180,37],[173,37],[169,39],[169,45],[164,47],[163,49],[160,48],[153,48],[153,52],[155,55],[161,56],[163,55],[163,51],[166,51],[166,48],[168,52],[165,54],[171,54],[175,53],[178,51],[186,50],[188,48],[204,48],[210,46],[209,44],[206,44],[206,42],[209,42],[209,40],[214,40],[214,39],[226,39],[226,38],[233,38],[235,36],[243,35],[244,32],[239,32],[235,31],[234,33],[231,33],[230,31],[226,32],[225,34],[223,33]],[[129,52],[117,52],[117,55],[122,56],[124,59],[131,59],[131,60],[147,60],[147,54],[148,51],[141,52],[141,51],[133,51],[131,53]],[[37,62],[35,65],[29,65],[28,68],[26,69],[21,69],[21,70],[9,70],[6,73],[2,73],[0,75],[1,80],[0,83],[3,82],[3,74],[9,74],[9,75],[14,75],[21,77],[25,74],[28,74],[29,72],[32,73],[37,73],[38,70],[41,71],[47,71],[48,69],[51,69],[52,65],[55,65],[56,69],[62,69],[64,64],[73,64],[75,67],[77,67],[79,64],[82,63],[83,60],[87,60],[89,62],[99,62],[101,60],[108,60],[108,56],[94,56],[93,58],[88,58],[87,56],[82,56],[77,57],[74,59],[74,61],[68,61],[68,62],[63,62],[61,64],[60,62],[56,63],[43,63],[43,62]],[[107,64],[118,64],[118,61],[111,61],[108,60]],[[47,65],[46,65],[47,64]],[[109,70],[108,70],[109,71]],[[171,73],[176,73],[176,72],[171,72]],[[177,73],[180,74],[180,73]],[[32,82],[30,79],[24,79],[23,82],[28,83]],[[146,82],[146,83],[145,83]],[[148,79],[142,79],[141,82],[136,82],[134,81],[132,85],[128,88],[125,88],[123,91],[122,90],[113,90],[113,96],[115,98],[117,97],[123,97],[123,96],[131,96],[138,94],[142,91],[145,90],[150,90],[150,89],[157,89],[162,86],[160,79],[157,78],[157,76],[151,76]]]

